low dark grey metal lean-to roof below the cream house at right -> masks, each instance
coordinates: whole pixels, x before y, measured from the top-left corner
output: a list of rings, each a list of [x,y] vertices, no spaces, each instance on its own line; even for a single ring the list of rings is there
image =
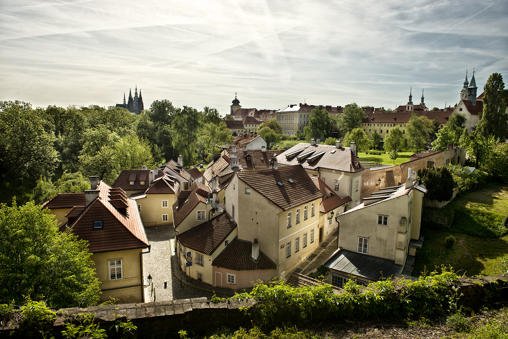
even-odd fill
[[[325,262],[325,267],[368,280],[378,281],[399,273],[402,265],[393,260],[340,249]]]

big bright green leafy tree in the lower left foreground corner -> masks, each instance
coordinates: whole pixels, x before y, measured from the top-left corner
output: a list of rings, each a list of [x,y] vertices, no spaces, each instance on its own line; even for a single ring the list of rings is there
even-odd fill
[[[34,201],[0,205],[0,295],[2,303],[47,299],[51,307],[87,307],[99,301],[99,280],[88,244],[59,232],[48,209]]]

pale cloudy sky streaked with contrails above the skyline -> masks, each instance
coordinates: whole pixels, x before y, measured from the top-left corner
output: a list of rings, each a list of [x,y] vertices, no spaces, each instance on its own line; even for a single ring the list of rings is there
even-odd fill
[[[508,0],[2,0],[0,100],[111,106],[135,86],[145,108],[290,104],[394,109],[424,89],[459,101],[508,86]]]

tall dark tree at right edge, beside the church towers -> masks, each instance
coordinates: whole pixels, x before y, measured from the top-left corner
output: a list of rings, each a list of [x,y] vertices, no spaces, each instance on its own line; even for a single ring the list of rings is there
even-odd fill
[[[477,128],[484,137],[506,139],[506,101],[508,89],[504,88],[503,77],[499,73],[493,73],[483,87],[483,112]]]

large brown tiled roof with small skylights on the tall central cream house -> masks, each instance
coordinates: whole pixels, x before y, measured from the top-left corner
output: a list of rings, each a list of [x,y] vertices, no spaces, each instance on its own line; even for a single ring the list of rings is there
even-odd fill
[[[318,199],[323,195],[309,178],[302,165],[299,164],[280,166],[278,169],[238,171],[236,175],[284,211]],[[282,186],[277,182],[280,182]]]

